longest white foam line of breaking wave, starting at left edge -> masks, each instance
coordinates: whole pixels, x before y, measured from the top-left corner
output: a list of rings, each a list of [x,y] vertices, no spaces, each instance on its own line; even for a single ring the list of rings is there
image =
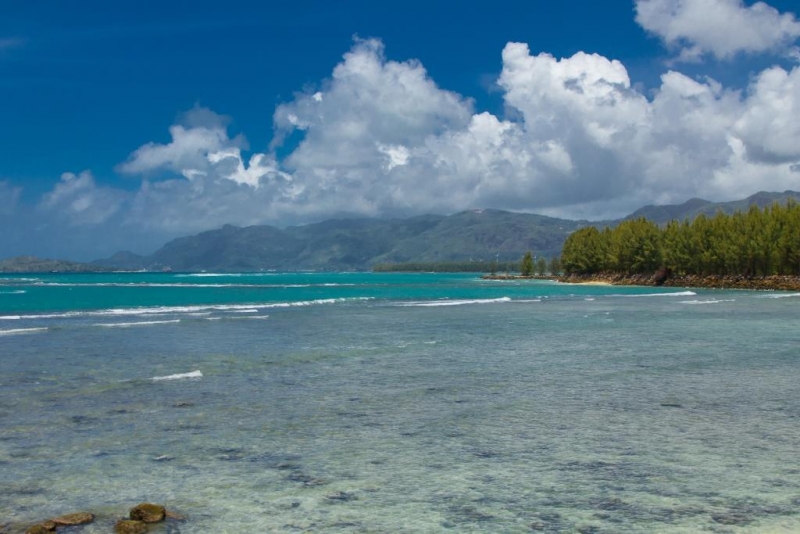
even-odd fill
[[[263,302],[249,304],[197,304],[191,306],[154,306],[142,308],[109,308],[105,310],[69,311],[61,313],[45,313],[38,315],[0,315],[0,319],[61,319],[70,317],[152,317],[154,315],[190,314],[199,312],[231,312],[237,310],[263,310],[268,308],[293,308],[315,306],[321,304],[339,304],[345,302],[372,300],[373,297],[331,298],[317,300],[300,300],[294,302]],[[248,312],[252,313],[252,312]]]

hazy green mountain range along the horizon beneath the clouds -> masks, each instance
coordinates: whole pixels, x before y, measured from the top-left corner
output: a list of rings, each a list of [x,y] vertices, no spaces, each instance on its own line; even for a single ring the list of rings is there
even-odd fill
[[[637,217],[663,224],[718,210],[764,207],[788,198],[800,200],[800,193],[759,192],[723,203],[691,199],[679,205],[646,206],[624,219],[601,223],[485,209],[409,219],[334,219],[283,229],[226,225],[174,239],[149,256],[119,252],[91,264],[15,258],[0,262],[0,271],[77,272],[79,266],[85,271],[362,270],[379,263],[517,261],[528,250],[550,258],[560,253],[570,233],[589,224],[614,226]]]

